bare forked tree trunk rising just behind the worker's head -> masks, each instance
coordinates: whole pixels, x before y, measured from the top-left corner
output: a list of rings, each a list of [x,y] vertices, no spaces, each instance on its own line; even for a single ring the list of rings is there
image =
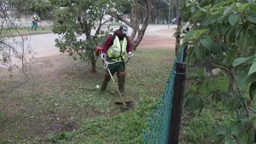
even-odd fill
[[[131,8],[131,20],[130,22],[123,17],[122,13],[120,11],[124,10],[124,6],[126,5]],[[150,13],[152,9],[152,3],[149,0],[144,0],[144,4],[138,4],[137,0],[135,1],[115,1],[113,3],[113,6],[115,9],[110,9],[109,14],[115,17],[118,20],[123,21],[126,23],[126,25],[130,26],[132,28],[132,34],[130,35],[131,45],[132,49],[136,50],[139,43],[141,43],[141,40],[144,36],[144,33],[147,29],[147,26],[150,22]],[[142,23],[142,27],[139,28],[139,10],[144,9],[146,11],[146,15],[144,17],[144,21]],[[135,38],[137,34],[137,38]]]

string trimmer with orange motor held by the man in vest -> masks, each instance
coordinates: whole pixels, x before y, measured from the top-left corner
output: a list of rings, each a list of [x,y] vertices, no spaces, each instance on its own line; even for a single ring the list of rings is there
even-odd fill
[[[96,53],[97,56],[101,56],[102,47],[99,47],[99,46],[96,47],[95,53]],[[128,60],[124,60],[124,62],[125,62],[125,63],[128,63],[129,60],[130,60],[130,57],[128,58]],[[121,101],[115,101],[115,105],[123,105],[122,110],[123,110],[123,111],[127,111],[127,110],[128,110],[128,106],[127,106],[127,105],[131,104],[132,101],[124,101],[124,99],[123,99],[123,97],[122,97],[122,95],[121,95],[121,93],[120,93],[120,91],[119,91],[119,89],[118,89],[118,86],[117,86],[117,84],[115,83],[115,80],[114,80],[112,74],[110,73],[110,70],[108,69],[108,65],[114,64],[114,63],[117,63],[117,62],[123,62],[123,61],[108,62],[108,61],[106,61],[106,59],[103,59],[102,62],[103,62],[103,67],[108,70],[108,73],[110,74],[110,77],[111,77],[111,79],[113,80],[113,83],[114,83],[114,85],[115,85],[115,88],[117,89],[118,95],[120,96],[120,99],[121,99]]]

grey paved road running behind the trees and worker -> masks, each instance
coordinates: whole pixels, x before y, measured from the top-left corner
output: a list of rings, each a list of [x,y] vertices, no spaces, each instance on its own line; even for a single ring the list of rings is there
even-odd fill
[[[170,25],[170,28],[175,28],[177,25]],[[118,26],[113,26],[113,29],[118,29]],[[156,34],[156,31],[161,29],[167,29],[168,25],[149,25],[145,35]],[[104,28],[103,28],[104,29]],[[106,28],[105,28],[106,29]],[[94,33],[94,32],[92,32]],[[128,34],[132,33],[132,29],[129,28]],[[36,55],[30,54],[28,57],[46,57],[60,54],[59,49],[55,47],[55,39],[59,38],[59,35],[49,33],[49,34],[37,34],[28,36],[28,40],[25,41],[25,47],[30,46],[31,50],[36,53]],[[20,37],[16,37],[17,41],[20,41]],[[21,48],[18,48],[18,51],[21,52]]]

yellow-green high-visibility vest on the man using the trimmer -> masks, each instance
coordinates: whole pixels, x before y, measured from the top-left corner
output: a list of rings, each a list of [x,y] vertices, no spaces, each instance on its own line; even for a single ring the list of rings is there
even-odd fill
[[[113,34],[112,34],[113,35]],[[109,47],[107,55],[110,57],[113,61],[120,61],[121,57],[125,59],[125,51],[127,46],[127,39],[124,37],[123,44],[120,44],[120,40],[118,36],[116,35],[113,45]]]

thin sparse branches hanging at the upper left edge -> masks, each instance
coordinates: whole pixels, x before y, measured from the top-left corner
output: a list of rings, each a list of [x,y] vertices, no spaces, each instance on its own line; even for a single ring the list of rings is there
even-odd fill
[[[21,60],[22,68],[24,68],[25,53],[29,52],[24,49],[25,38],[19,33],[19,25],[17,22],[21,19],[21,15],[27,16],[25,11],[19,9],[20,5],[16,1],[1,1],[1,32],[0,32],[0,63],[9,65],[11,70],[12,59]],[[14,33],[20,35],[21,39],[14,37]],[[24,69],[23,69],[24,70]]]

